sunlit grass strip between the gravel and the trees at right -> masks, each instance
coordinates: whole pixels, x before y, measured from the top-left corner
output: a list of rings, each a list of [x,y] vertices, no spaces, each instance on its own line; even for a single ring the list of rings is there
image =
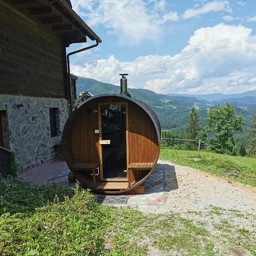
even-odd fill
[[[200,155],[198,155],[197,151],[172,150],[168,147],[161,148],[160,158],[256,187],[255,158],[232,156],[235,159],[233,160],[223,154],[200,151]]]

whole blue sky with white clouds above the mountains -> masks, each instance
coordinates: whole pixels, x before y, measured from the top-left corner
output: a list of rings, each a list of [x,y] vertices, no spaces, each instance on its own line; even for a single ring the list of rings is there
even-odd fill
[[[256,0],[73,0],[102,43],[71,72],[156,93],[256,89]],[[94,44],[72,44],[67,52]]]

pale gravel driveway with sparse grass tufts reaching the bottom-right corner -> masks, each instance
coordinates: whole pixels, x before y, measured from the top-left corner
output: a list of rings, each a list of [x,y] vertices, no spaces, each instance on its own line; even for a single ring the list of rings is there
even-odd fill
[[[256,188],[191,167],[159,160],[166,171],[166,205],[138,209],[144,214],[168,214],[203,225],[216,255],[256,255],[246,243],[256,244]],[[254,250],[254,249],[253,249]],[[148,255],[181,255],[151,247]]]

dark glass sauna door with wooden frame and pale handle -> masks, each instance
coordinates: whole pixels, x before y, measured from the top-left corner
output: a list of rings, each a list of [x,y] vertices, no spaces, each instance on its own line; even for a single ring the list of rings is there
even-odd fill
[[[127,180],[127,104],[99,104],[101,180]]]

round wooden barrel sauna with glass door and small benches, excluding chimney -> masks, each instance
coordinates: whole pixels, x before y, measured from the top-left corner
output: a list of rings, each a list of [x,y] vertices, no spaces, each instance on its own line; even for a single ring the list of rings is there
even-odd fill
[[[63,131],[65,160],[93,191],[134,191],[159,157],[161,127],[144,102],[122,94],[101,94],[81,102]]]

